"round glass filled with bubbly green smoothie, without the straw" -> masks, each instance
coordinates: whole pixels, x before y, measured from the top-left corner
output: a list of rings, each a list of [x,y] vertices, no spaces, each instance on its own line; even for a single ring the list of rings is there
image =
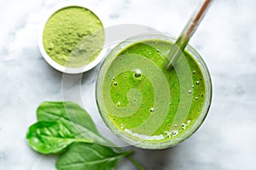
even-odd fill
[[[176,38],[160,33],[131,37],[113,48],[96,80],[96,102],[108,128],[128,144],[164,149],[188,139],[207,116],[212,82],[194,48],[166,69]]]

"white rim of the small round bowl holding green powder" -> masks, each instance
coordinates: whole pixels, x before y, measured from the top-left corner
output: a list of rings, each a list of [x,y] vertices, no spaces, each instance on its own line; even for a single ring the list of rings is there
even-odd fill
[[[93,67],[98,65],[104,58],[107,49],[102,47],[102,51],[96,57],[96,59],[94,59],[88,65],[84,65],[84,66],[78,67],[78,68],[70,68],[70,67],[60,65],[60,64],[56,63],[55,60],[53,60],[49,57],[49,55],[44,50],[44,43],[43,43],[44,26],[46,25],[47,21],[49,20],[49,18],[52,14],[55,14],[55,12],[59,11],[61,8],[67,8],[67,7],[82,7],[82,8],[89,9],[93,14],[96,14],[96,16],[99,18],[99,20],[102,21],[102,26],[104,26],[103,25],[103,19],[104,19],[103,14],[101,14],[100,11],[96,11],[96,9],[91,7],[90,4],[84,3],[84,1],[69,1],[66,3],[61,3],[61,5],[58,5],[55,8],[52,8],[51,10],[49,10],[49,14],[46,15],[42,26],[40,26],[39,37],[38,37],[38,47],[39,47],[40,52],[43,55],[44,59],[47,61],[47,63],[49,65],[51,65],[53,68],[55,68],[56,70],[65,72],[68,74],[79,74],[79,73],[82,73],[85,71],[89,71],[90,69],[92,69]]]

